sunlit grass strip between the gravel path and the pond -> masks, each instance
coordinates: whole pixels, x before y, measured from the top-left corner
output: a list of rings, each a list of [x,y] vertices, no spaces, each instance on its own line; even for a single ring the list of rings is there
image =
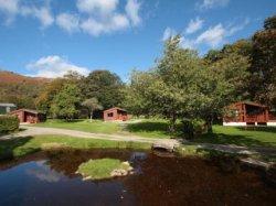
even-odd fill
[[[139,142],[119,142],[109,140],[81,139],[57,135],[17,138],[0,141],[0,160],[20,158],[25,154],[55,148],[72,149],[134,149],[148,150],[151,144]]]

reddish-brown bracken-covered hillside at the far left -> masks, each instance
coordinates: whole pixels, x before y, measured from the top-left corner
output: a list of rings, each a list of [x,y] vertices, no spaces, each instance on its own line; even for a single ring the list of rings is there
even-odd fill
[[[18,108],[34,109],[34,99],[49,82],[51,82],[49,78],[28,77],[0,71],[0,102],[13,102]]]

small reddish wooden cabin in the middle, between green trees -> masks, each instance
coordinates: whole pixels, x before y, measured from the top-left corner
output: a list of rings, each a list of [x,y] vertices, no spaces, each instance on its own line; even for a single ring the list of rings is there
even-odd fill
[[[128,120],[128,115],[125,109],[114,107],[104,111],[104,120],[105,121],[126,121]]]

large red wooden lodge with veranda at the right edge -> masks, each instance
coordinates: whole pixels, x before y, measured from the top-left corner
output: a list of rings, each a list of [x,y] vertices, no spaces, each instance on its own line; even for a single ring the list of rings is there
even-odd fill
[[[269,108],[251,101],[240,101],[227,107],[229,113],[223,117],[223,126],[264,124],[276,126],[276,118]]]

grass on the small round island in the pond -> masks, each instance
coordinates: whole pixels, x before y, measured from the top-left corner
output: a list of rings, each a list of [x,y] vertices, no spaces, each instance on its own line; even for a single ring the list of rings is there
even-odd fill
[[[105,180],[110,178],[114,170],[130,170],[129,164],[126,164],[117,159],[98,159],[89,160],[78,166],[77,173],[85,178]]]

